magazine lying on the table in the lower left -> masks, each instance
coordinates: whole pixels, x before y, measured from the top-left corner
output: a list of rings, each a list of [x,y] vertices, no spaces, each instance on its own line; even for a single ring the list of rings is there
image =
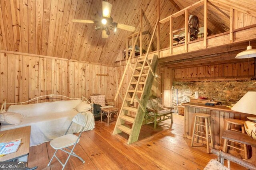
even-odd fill
[[[20,146],[20,143],[21,139],[0,143],[0,154],[5,155],[16,152]]]

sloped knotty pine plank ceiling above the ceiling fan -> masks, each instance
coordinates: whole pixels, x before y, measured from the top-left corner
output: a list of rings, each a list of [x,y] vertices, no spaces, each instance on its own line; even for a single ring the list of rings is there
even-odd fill
[[[157,20],[157,0],[108,2],[112,4],[113,20],[134,26],[136,31],[140,27],[140,9],[144,10],[142,40],[143,49],[147,49]],[[160,18],[195,2],[198,0],[160,0]],[[210,0],[209,4],[208,27],[213,33],[229,30],[229,6],[220,2]],[[190,14],[196,14],[203,23],[203,7]],[[94,24],[71,22],[74,18],[94,20],[98,15],[102,15],[102,0],[0,0],[1,49],[112,65],[120,50],[125,49],[125,37],[131,32],[118,29],[116,35],[111,33],[102,39],[102,32],[96,31]],[[183,17],[175,23],[174,29],[182,27]],[[169,45],[169,26],[166,23],[160,27],[161,49]],[[154,50],[156,41],[150,51]]]

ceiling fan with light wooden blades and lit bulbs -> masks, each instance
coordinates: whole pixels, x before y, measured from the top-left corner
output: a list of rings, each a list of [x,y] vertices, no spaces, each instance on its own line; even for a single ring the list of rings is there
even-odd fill
[[[116,32],[117,28],[124,29],[127,31],[135,31],[135,27],[130,25],[124,25],[121,23],[113,22],[113,18],[110,16],[112,9],[112,4],[106,2],[105,0],[102,1],[102,16],[100,16],[96,20],[71,20],[72,22],[78,23],[96,23],[95,30],[102,29],[102,38],[108,38],[110,35],[110,30]]]

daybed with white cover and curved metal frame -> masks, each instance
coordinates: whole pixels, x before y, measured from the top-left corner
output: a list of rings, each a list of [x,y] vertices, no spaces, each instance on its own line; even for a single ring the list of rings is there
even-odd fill
[[[39,103],[40,98],[48,98],[49,102]],[[53,102],[54,98],[59,101]],[[93,104],[84,97],[68,98],[66,96],[51,94],[21,103],[7,104],[5,101],[0,113],[2,113],[3,109],[6,109],[6,106],[9,106],[7,109],[8,112],[20,113],[23,118],[19,125],[2,124],[0,131],[30,125],[30,146],[40,145],[64,135],[72,118],[78,113],[74,108],[83,101],[91,106],[91,109],[85,112],[88,115],[88,121],[84,131],[92,130],[95,125]],[[80,131],[81,126],[73,123],[68,133],[73,134],[79,133]]]

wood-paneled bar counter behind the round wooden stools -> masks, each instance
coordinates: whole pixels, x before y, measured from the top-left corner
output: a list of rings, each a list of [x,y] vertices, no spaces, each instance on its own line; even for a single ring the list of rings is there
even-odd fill
[[[226,129],[225,119],[241,119],[247,120],[246,117],[255,116],[246,113],[240,113],[237,111],[233,111],[226,106],[206,106],[200,103],[184,103],[182,106],[185,106],[184,113],[184,133],[183,136],[192,139],[193,127],[194,127],[194,113],[206,113],[211,115],[211,126],[212,126],[212,136],[214,141],[214,147],[218,149],[222,149],[224,139],[222,139],[222,134]],[[200,119],[202,121],[202,119]],[[232,128],[239,130],[239,126],[232,125]],[[199,128],[199,131],[204,131],[202,127]],[[199,140],[200,143],[204,140]]]

